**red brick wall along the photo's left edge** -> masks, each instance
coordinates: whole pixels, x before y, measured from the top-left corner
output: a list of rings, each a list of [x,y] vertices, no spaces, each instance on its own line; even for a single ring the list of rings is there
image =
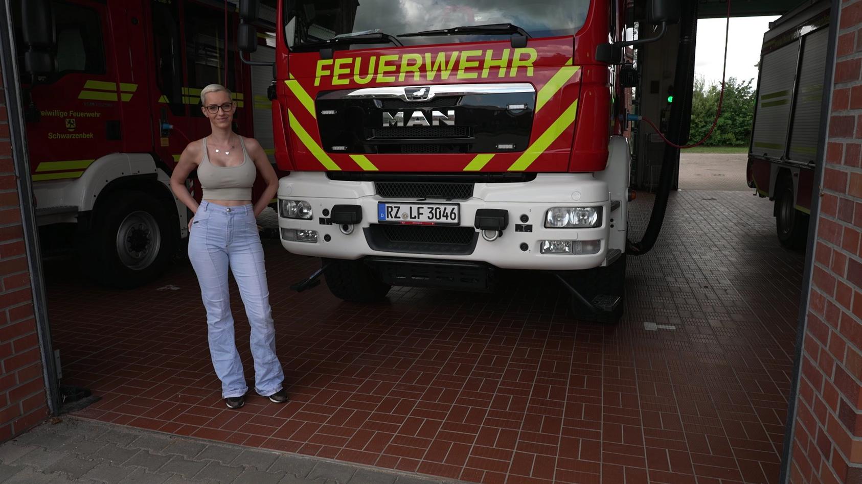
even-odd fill
[[[48,412],[5,102],[0,76],[0,442]]]

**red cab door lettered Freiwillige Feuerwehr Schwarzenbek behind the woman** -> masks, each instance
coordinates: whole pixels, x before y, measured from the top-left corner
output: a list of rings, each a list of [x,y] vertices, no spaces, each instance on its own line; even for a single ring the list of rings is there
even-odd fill
[[[106,4],[54,0],[52,9],[56,68],[31,91],[40,114],[28,123],[35,181],[80,177],[95,159],[122,151],[122,103],[134,96],[118,78]]]

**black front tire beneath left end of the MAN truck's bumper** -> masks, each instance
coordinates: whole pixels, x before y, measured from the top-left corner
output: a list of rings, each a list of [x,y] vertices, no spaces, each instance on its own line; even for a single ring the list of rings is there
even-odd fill
[[[344,301],[381,301],[392,288],[360,260],[323,259],[323,264],[328,264],[323,276],[329,291]]]

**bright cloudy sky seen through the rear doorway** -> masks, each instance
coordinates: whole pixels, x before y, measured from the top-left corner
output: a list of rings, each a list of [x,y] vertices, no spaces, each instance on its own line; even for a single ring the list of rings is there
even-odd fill
[[[753,78],[757,85],[757,63],[760,46],[769,22],[778,16],[743,17],[730,19],[728,41],[728,78]],[[702,19],[697,22],[695,75],[703,76],[707,84],[721,83],[721,66],[724,61],[724,31],[727,19]]]

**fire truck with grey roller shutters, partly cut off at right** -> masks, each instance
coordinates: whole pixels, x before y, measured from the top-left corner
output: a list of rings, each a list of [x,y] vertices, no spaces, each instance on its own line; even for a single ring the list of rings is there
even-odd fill
[[[760,54],[748,186],[775,201],[778,240],[808,239],[827,68],[830,2],[804,3],[772,22]]]

